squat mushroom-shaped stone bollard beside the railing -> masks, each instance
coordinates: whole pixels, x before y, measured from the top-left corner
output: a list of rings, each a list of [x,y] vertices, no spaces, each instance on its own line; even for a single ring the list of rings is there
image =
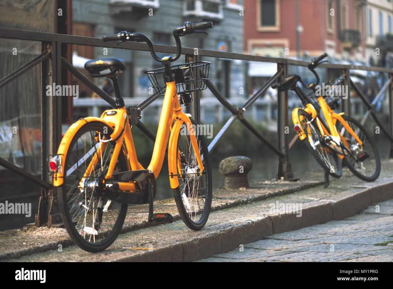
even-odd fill
[[[219,165],[220,173],[225,176],[224,186],[228,189],[250,188],[247,173],[252,169],[252,161],[246,156],[224,158]]]

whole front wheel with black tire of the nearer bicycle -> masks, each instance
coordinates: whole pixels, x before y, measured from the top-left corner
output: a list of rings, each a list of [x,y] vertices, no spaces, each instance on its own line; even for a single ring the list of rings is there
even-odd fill
[[[193,120],[191,123],[196,125]],[[191,138],[188,133],[183,132],[188,132],[185,123],[182,124],[178,138],[179,186],[173,189],[174,199],[185,225],[191,230],[200,230],[208,221],[213,190],[209,152],[203,136],[195,131],[196,143],[204,166],[204,171],[200,175]]]

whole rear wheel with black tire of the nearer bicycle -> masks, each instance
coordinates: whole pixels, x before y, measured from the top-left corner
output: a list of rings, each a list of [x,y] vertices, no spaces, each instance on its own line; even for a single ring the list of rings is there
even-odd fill
[[[64,182],[58,189],[64,226],[73,241],[88,252],[107,249],[120,233],[127,214],[127,204],[101,197],[94,186],[89,186],[107,173],[115,145],[107,141],[111,133],[111,128],[99,121],[86,123],[77,131],[65,158]],[[118,171],[127,171],[123,151],[114,169]]]

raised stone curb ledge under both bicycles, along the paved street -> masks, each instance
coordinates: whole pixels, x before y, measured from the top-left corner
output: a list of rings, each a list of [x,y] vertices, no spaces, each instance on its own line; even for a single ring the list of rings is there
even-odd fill
[[[393,164],[389,161],[390,163]],[[264,236],[343,219],[359,213],[370,204],[393,199],[393,178],[390,173],[371,183],[358,180],[349,173],[346,179],[332,180],[327,189],[323,189],[322,185],[317,186],[320,183],[315,180],[308,180],[308,183],[263,181],[250,190],[217,190],[212,205],[212,214],[217,212],[217,216],[209,226],[197,232],[182,228],[178,230],[179,234],[167,234],[164,236],[172,237],[165,238],[157,232],[155,239],[145,238],[143,243],[140,243],[138,236],[152,232],[152,227],[143,221],[147,206],[134,206],[133,214],[122,232],[138,230],[134,234],[138,243],[127,241],[117,247],[113,245],[114,249],[109,247],[100,253],[86,253],[86,256],[79,248],[71,250],[83,255],[86,261],[195,261],[228,252],[239,248],[241,244],[263,239]],[[315,188],[310,189],[311,187]],[[270,198],[273,198],[272,201]],[[255,203],[258,201],[260,203]],[[301,217],[297,217],[293,211],[270,213],[269,203],[275,201],[302,204]],[[170,199],[158,201],[157,207],[162,211],[173,212],[175,218],[180,219],[176,206]],[[244,210],[241,209],[243,207]],[[227,214],[225,212],[230,217],[222,219]],[[234,219],[230,219],[232,217]],[[164,226],[159,225],[157,228],[165,228]],[[1,232],[0,260],[38,255],[40,252],[56,250],[59,244],[63,247],[73,244],[64,229],[57,230],[59,231],[56,228],[39,228],[34,232]],[[174,230],[178,232],[177,229]],[[21,245],[22,242],[27,244]],[[8,249],[4,249],[2,244],[6,244]]]

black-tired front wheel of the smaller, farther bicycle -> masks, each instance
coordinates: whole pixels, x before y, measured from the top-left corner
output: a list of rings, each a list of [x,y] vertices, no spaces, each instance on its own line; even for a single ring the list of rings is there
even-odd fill
[[[365,159],[364,162],[360,162],[360,166],[356,160],[354,160],[351,156],[346,155],[343,158],[343,164],[349,168],[349,170],[359,179],[365,180],[367,182],[372,182],[376,180],[379,177],[379,174],[381,172],[381,160],[379,158],[379,153],[378,149],[376,148],[376,144],[374,140],[371,138],[369,132],[364,128],[362,124],[360,124],[359,121],[355,120],[354,118],[351,118],[350,116],[342,116],[342,118],[345,120],[345,122],[351,127],[351,129],[356,133],[358,138],[362,141],[362,150],[365,149],[367,153],[370,153],[372,151],[372,155],[369,154],[369,158]],[[348,131],[343,127],[343,125],[340,122],[337,122],[337,130],[340,134],[345,133],[343,135],[347,140],[351,142],[351,144],[355,144],[356,140],[351,136],[349,138],[350,134]],[[340,128],[340,129],[339,129]],[[356,130],[359,129],[361,133],[357,133]],[[367,144],[368,142],[368,144]],[[355,144],[356,145],[356,144]],[[373,162],[375,162],[375,168],[372,167]],[[365,163],[367,164],[367,168],[364,166]],[[367,171],[370,171],[370,173],[367,175],[364,175],[362,173],[363,170],[366,169]],[[371,168],[371,169],[369,169]],[[360,169],[360,171],[359,171]],[[364,171],[365,172],[365,171]]]

